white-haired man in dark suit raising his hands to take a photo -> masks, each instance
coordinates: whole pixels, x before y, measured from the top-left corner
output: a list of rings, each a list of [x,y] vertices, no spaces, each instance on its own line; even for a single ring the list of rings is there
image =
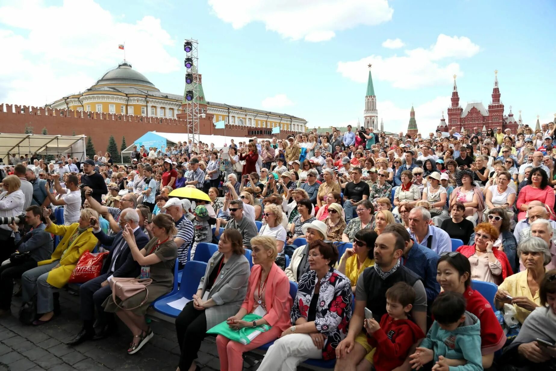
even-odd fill
[[[78,345],[86,340],[104,339],[116,330],[116,321],[111,313],[105,313],[102,303],[112,295],[110,281],[112,277],[137,277],[141,272],[141,267],[137,264],[130,253],[130,248],[126,240],[122,237],[122,231],[129,226],[135,235],[137,247],[141,250],[147,245],[148,237],[139,227],[139,214],[135,209],[123,209],[118,219],[120,232],[113,236],[107,236],[102,232],[100,223],[95,217],[90,218],[93,235],[98,238],[106,248],[110,250],[101,275],[85,282],[81,285],[79,296],[81,298],[81,319],[83,328],[70,340],[67,345]],[[95,308],[97,309],[98,323],[100,332],[95,333],[93,323],[95,322]]]

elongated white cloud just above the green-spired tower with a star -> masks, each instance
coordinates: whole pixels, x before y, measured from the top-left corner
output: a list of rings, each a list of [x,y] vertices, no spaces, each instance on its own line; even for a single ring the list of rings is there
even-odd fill
[[[373,78],[387,81],[401,89],[444,85],[453,81],[453,75],[463,76],[460,66],[450,60],[469,58],[480,47],[468,37],[439,35],[429,48],[406,50],[405,55],[383,57],[371,55],[359,61],[338,62],[337,72],[356,82],[367,82],[367,65],[373,65]],[[448,61],[445,61],[448,60]]]

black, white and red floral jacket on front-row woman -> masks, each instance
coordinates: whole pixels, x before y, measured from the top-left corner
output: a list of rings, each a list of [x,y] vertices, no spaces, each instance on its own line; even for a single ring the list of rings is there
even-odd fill
[[[292,324],[301,317],[307,319],[316,280],[316,271],[309,271],[301,276],[297,296],[291,307]],[[347,335],[352,298],[350,280],[339,271],[330,268],[320,281],[319,302],[315,315],[316,329],[327,337],[322,348],[322,358],[325,360],[336,357],[336,346]]]

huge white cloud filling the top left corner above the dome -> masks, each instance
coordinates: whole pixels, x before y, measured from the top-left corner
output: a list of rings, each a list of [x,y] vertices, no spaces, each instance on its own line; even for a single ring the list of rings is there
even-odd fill
[[[0,101],[43,105],[83,91],[103,74],[98,66],[107,70],[123,60],[118,50],[123,42],[127,60],[143,74],[180,69],[180,61],[166,51],[175,40],[160,19],[125,23],[122,18],[93,0],[64,0],[59,6],[25,0],[0,7],[0,40],[10,51],[0,61]],[[156,58],[145,57],[146,45]]]

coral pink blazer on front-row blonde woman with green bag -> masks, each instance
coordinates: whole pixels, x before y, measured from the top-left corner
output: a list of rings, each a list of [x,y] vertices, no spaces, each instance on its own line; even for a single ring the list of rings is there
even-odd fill
[[[249,276],[249,286],[242,308],[251,313],[255,306],[255,290],[259,286],[262,268],[254,265]],[[263,317],[272,327],[284,331],[291,326],[290,311],[293,301],[290,296],[290,280],[276,263],[272,265],[269,279],[266,281],[265,305],[266,315]]]

